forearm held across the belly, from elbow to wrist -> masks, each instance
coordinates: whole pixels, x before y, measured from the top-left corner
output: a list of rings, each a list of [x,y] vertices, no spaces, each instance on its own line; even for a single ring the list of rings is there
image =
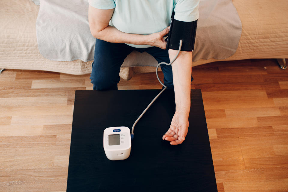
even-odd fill
[[[134,45],[146,45],[147,35],[124,33],[113,26],[107,26],[100,32],[94,32],[92,35],[97,38],[111,43],[128,43]]]

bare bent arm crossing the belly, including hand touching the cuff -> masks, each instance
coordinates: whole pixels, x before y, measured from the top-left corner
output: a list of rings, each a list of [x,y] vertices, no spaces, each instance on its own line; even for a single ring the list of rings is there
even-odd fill
[[[168,28],[164,29],[162,32],[150,35],[124,33],[109,25],[113,12],[114,9],[97,9],[89,5],[88,19],[93,37],[111,43],[152,45],[160,47],[161,49],[166,48],[166,42],[164,41],[163,36],[169,32]]]

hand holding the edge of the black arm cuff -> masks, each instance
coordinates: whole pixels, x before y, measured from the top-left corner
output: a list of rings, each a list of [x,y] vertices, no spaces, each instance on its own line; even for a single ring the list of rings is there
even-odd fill
[[[166,27],[163,31],[152,33],[150,35],[147,35],[148,39],[148,45],[156,46],[161,49],[166,49],[167,42],[164,40],[163,36],[169,33],[169,27]]]

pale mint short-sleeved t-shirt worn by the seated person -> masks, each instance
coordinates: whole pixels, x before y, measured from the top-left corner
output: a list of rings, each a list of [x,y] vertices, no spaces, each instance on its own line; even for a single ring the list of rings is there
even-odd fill
[[[148,35],[160,32],[174,18],[179,21],[196,21],[199,18],[199,0],[88,0],[92,7],[113,9],[109,25],[119,31]],[[150,45],[127,44],[137,48]]]

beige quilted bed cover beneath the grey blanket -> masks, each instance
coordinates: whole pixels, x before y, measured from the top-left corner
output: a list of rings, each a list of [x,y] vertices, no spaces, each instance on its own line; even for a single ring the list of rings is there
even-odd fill
[[[288,1],[233,0],[242,22],[242,34],[234,55],[223,60],[201,59],[193,66],[213,61],[249,58],[288,58]],[[88,74],[92,61],[50,61],[37,46],[35,22],[39,6],[31,0],[0,1],[0,67],[47,70],[68,74]],[[148,53],[132,52],[123,67],[157,62]],[[145,67],[143,67],[145,68]],[[155,70],[155,69],[154,69]],[[124,72],[123,72],[124,71]],[[128,79],[129,70],[120,75]],[[149,70],[143,69],[147,72]],[[139,71],[138,71],[139,72]]]

